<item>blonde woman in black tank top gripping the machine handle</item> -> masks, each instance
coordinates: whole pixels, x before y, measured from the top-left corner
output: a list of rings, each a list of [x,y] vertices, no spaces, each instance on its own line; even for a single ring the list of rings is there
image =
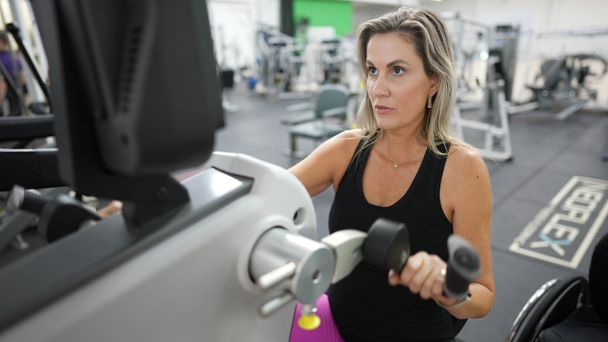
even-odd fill
[[[327,140],[290,171],[311,196],[333,186],[330,233],[367,231],[379,217],[401,221],[412,255],[388,281],[385,271],[360,263],[317,303],[322,327],[294,324],[291,341],[454,341],[454,318],[490,312],[494,280],[490,176],[450,122],[456,70],[449,32],[434,11],[400,8],[361,25],[357,50],[367,90],[358,129]],[[466,298],[442,295],[452,233],[477,248],[482,262]]]

